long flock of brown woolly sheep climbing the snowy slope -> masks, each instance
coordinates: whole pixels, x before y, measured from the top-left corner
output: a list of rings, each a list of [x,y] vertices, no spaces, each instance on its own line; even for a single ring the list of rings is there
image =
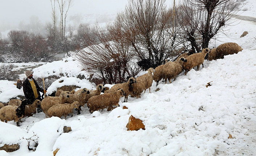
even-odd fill
[[[236,43],[224,43],[211,51],[206,48],[196,54],[182,54],[173,62],[167,62],[166,60],[165,64],[155,69],[149,68],[148,73],[136,79],[130,77],[127,82],[115,84],[111,88],[99,84],[95,90],[82,88],[70,92],[60,89],[55,93],[55,97],[47,96],[42,101],[34,101],[31,105],[28,105],[27,99],[23,101],[13,99],[6,106],[0,102],[0,119],[2,122],[14,120],[19,126],[20,119],[37,113],[38,107],[41,107],[46,117],[61,118],[64,116],[65,119],[71,113],[71,116],[73,116],[73,110],[77,110],[80,114],[81,107],[85,104],[87,104],[90,113],[103,109],[110,111],[119,106],[119,100],[123,96],[125,97],[124,102],[127,102],[129,95],[139,98],[143,91],[145,93],[146,89],[149,89],[150,93],[153,80],[156,81],[156,85],[162,79],[164,79],[165,84],[167,80],[171,83],[171,79],[175,80],[183,70],[185,70],[185,75],[193,67],[197,67],[197,70],[199,70],[199,66],[203,65],[206,54],[208,54],[209,60],[216,60],[224,58],[224,55],[238,53],[241,50],[243,49]]]

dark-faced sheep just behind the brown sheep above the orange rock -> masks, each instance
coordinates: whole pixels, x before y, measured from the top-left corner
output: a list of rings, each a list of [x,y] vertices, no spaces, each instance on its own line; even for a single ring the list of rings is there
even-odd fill
[[[121,84],[115,84],[113,85],[110,90],[109,90],[109,93],[114,93],[116,92],[118,89],[122,88],[125,92],[125,96],[124,96],[124,102],[127,102],[128,100],[128,96],[132,93],[133,91],[133,85],[136,83],[136,80],[134,79],[134,77],[130,77],[128,79],[127,82],[125,83],[121,83]]]

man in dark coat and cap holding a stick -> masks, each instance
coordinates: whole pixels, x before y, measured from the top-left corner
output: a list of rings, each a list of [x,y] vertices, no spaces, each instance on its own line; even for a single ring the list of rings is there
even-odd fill
[[[35,100],[42,101],[42,98],[40,96],[40,92],[43,94],[46,92],[46,89],[42,89],[37,84],[36,80],[33,78],[33,72],[32,71],[26,71],[26,80],[23,82],[23,92],[25,95],[25,98],[29,100],[29,104],[33,104]],[[38,112],[41,112],[41,108],[38,109]]]

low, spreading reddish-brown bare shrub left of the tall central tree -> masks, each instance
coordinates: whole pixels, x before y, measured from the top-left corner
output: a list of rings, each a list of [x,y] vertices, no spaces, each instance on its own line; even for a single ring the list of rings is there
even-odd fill
[[[84,43],[90,46],[80,49],[77,59],[86,71],[101,80],[98,83],[122,83],[127,76],[137,74],[133,72],[139,72],[137,68],[137,70],[131,68],[134,66],[132,62],[134,53],[120,36],[113,36],[99,25],[95,26],[92,34],[97,39],[90,38],[91,34],[85,33],[87,39]]]

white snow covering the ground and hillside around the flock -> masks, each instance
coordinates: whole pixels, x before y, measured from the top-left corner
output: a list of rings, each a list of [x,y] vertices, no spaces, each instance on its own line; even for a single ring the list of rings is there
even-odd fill
[[[120,107],[112,111],[90,114],[87,107],[82,107],[80,115],[74,113],[66,120],[46,118],[41,112],[23,118],[20,127],[14,121],[0,122],[0,147],[20,145],[17,151],[0,151],[0,155],[51,156],[57,148],[57,156],[256,155],[255,22],[238,21],[225,29],[233,37],[219,35],[219,41],[210,45],[236,42],[243,48],[241,52],[206,62],[199,71],[191,69],[187,75],[182,72],[171,84],[160,82],[156,87],[153,82],[151,93],[146,90],[141,98],[128,97],[128,102],[123,102],[122,97]],[[248,34],[240,38],[245,30]],[[75,78],[79,74],[88,75],[72,57],[42,64],[33,68],[33,72],[34,77],[63,74],[51,84],[48,93],[62,85],[95,88],[86,79]],[[206,88],[208,82],[211,86]],[[13,83],[0,81],[1,102],[23,95]],[[160,90],[156,92],[157,88]],[[143,121],[145,130],[127,131],[125,126],[131,115]],[[63,133],[63,126],[70,126],[72,131]],[[27,140],[22,138],[33,138],[35,134],[38,146],[36,151],[29,151]]]

